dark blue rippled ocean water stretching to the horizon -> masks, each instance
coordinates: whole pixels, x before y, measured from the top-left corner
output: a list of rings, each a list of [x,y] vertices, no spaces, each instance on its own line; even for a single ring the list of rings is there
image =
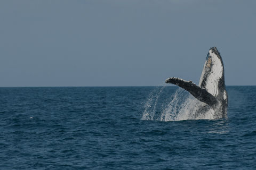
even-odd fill
[[[0,88],[0,169],[256,169],[256,86],[227,91],[227,118],[173,121],[173,86]]]

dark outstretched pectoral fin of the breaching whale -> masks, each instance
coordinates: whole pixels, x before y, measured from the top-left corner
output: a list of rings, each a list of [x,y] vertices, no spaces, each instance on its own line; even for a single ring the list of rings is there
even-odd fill
[[[212,94],[210,94],[204,88],[197,86],[192,81],[186,81],[179,78],[169,78],[165,80],[165,83],[172,83],[181,87],[182,89],[187,90],[188,92],[190,92],[191,95],[193,95],[199,101],[206,103],[212,108],[214,108],[219,104],[219,101]]]

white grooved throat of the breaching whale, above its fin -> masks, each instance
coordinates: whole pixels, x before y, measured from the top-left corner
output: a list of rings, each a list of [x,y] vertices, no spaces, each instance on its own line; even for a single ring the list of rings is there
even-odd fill
[[[205,89],[213,96],[218,96],[219,94],[218,84],[219,84],[220,78],[222,77],[223,66],[218,56],[212,53],[212,50],[209,51],[209,56],[211,57],[212,68],[211,68],[211,72],[208,73],[209,75],[207,76]],[[204,69],[202,71],[202,75],[199,80],[199,86],[201,86],[201,83],[203,81],[206,65],[207,65],[207,61],[205,61],[204,63]]]

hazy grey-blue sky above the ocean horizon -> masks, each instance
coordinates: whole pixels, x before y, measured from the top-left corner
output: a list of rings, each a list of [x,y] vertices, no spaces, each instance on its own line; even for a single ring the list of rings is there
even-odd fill
[[[0,87],[198,84],[216,46],[227,86],[256,85],[256,1],[0,1]]]

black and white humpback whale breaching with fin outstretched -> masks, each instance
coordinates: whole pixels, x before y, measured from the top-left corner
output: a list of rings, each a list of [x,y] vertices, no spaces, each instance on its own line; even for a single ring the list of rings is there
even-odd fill
[[[220,53],[212,47],[206,56],[198,86],[192,81],[179,78],[166,79],[165,83],[175,84],[193,95],[204,104],[198,112],[214,112],[214,118],[227,117],[228,94],[224,79],[224,66]]]

